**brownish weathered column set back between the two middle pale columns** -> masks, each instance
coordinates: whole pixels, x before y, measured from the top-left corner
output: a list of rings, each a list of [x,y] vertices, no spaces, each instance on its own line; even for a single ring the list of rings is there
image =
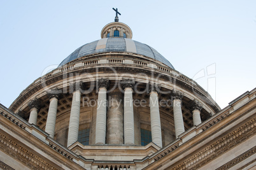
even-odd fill
[[[108,94],[107,136],[108,144],[124,143],[123,97],[119,89]]]

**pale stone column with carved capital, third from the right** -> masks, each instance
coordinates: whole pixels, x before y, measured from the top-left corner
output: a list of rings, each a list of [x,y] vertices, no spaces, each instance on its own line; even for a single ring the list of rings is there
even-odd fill
[[[159,113],[158,90],[160,85],[152,83],[150,85],[150,122],[152,141],[162,148],[162,131]]]

